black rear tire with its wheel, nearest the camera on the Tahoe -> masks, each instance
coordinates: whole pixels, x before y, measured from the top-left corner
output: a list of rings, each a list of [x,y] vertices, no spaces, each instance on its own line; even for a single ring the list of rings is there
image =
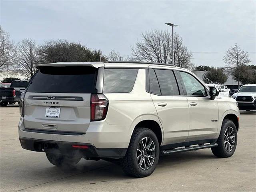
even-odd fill
[[[140,148],[143,145],[146,147]],[[138,155],[138,150],[141,155]],[[136,128],[132,134],[125,157],[120,159],[120,165],[122,170],[130,176],[146,177],[154,172],[159,160],[159,154],[159,143],[156,134],[148,128]],[[152,159],[153,157],[154,160]],[[141,162],[140,165],[139,161]]]

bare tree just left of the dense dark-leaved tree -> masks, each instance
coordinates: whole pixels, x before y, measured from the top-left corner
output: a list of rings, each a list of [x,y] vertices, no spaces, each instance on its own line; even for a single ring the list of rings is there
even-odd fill
[[[38,64],[38,46],[32,39],[24,39],[17,44],[17,53],[14,58],[15,73],[32,78]]]

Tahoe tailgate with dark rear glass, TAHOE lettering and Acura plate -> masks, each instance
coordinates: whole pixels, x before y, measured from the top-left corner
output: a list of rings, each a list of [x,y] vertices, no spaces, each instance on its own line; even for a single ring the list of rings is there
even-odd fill
[[[92,66],[40,68],[26,90],[25,128],[86,133],[97,71]]]

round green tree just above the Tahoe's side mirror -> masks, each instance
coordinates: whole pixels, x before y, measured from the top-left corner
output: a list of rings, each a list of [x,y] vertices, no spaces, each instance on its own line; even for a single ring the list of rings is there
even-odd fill
[[[228,76],[223,72],[223,69],[212,68],[203,75],[205,83],[224,84],[228,80]]]

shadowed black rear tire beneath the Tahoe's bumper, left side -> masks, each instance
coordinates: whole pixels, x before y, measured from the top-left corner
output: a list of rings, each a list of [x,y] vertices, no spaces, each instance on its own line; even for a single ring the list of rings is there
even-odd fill
[[[48,161],[55,166],[75,166],[81,157],[64,156],[62,154],[47,153]]]

